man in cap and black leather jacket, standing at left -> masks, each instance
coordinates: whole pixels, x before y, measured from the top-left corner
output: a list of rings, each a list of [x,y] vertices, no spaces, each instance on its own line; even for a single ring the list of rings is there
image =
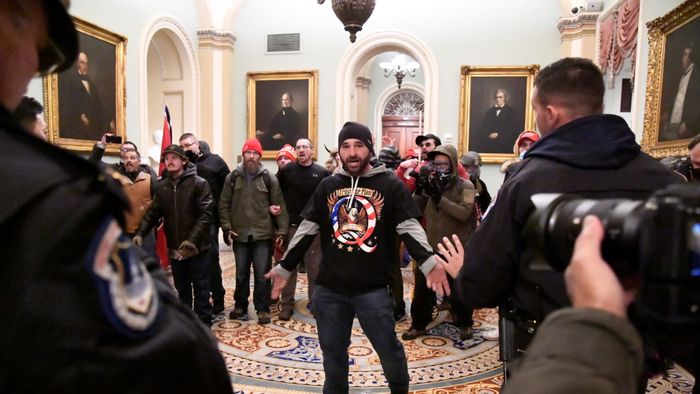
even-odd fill
[[[175,289],[180,301],[191,308],[194,288],[194,311],[204,324],[211,326],[207,262],[212,216],[211,190],[207,181],[197,176],[195,167],[187,166],[187,156],[180,146],[165,148],[163,157],[168,177],[158,182],[153,204],[136,231],[134,243],[141,245],[144,234],[163,218]]]

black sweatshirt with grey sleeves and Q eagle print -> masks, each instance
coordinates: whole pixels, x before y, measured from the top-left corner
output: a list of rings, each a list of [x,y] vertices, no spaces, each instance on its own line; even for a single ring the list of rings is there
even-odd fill
[[[318,285],[363,292],[391,284],[398,253],[396,233],[421,270],[429,272],[436,262],[416,220],[419,215],[408,190],[384,164],[359,177],[341,170],[318,185],[287,253],[273,270],[288,277],[320,232]]]

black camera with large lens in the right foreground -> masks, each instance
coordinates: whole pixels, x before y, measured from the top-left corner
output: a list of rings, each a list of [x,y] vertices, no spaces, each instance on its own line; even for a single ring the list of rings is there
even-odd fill
[[[697,336],[700,187],[672,185],[645,201],[536,194],[532,202],[525,236],[538,256],[531,269],[546,262],[563,271],[584,217],[595,215],[605,228],[603,259],[623,284],[638,286],[634,308],[645,330],[669,339]]]

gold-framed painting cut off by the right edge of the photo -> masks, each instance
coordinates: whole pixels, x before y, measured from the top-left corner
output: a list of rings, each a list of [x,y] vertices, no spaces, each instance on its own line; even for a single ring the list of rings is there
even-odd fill
[[[690,0],[647,23],[649,64],[642,150],[656,158],[686,154],[688,141],[700,134],[700,62],[695,63],[689,83],[686,81],[685,105],[674,109],[684,74],[684,52],[690,46],[695,58],[700,53],[699,15],[700,0]],[[686,122],[689,114],[694,114],[694,119]]]

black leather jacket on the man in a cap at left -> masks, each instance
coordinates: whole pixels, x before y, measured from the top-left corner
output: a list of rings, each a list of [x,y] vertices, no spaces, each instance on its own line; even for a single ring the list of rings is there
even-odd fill
[[[212,221],[212,195],[209,184],[186,165],[177,178],[163,178],[156,185],[153,204],[143,217],[136,235],[144,234],[163,218],[168,249],[176,250],[182,241],[192,242],[199,252],[210,248],[209,228]]]

